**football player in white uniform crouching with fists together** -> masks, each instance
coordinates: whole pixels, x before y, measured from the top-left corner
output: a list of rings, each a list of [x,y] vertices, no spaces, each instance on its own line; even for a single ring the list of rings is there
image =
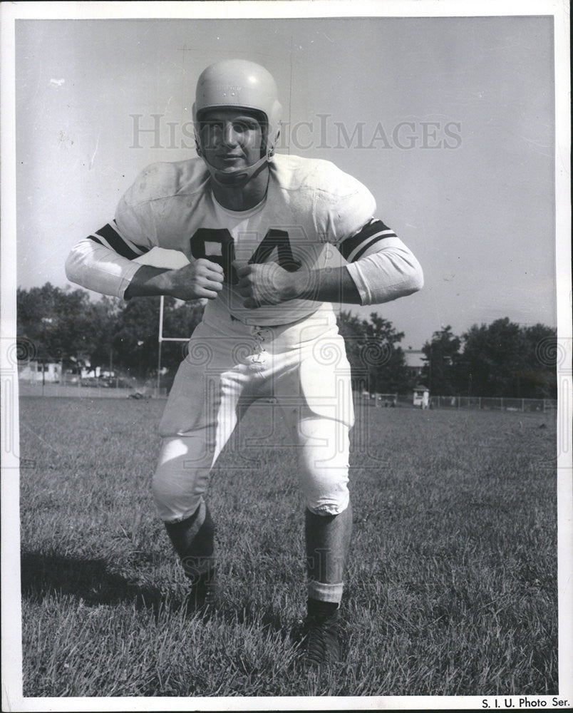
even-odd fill
[[[153,478],[197,606],[212,603],[216,581],[210,470],[253,401],[272,396],[282,409],[306,507],[304,660],[314,666],[340,657],[352,525],[350,369],[331,302],[388,302],[420,289],[423,276],[358,180],[324,160],[275,155],[281,111],[262,66],[207,67],[193,106],[199,158],[143,170],[115,220],[73,247],[66,271],[125,299],[207,299],[165,406]],[[133,262],[155,246],[190,262]]]

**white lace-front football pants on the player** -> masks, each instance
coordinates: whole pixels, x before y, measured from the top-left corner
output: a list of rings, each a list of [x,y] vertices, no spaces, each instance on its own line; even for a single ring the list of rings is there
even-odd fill
[[[269,423],[278,407],[294,436],[306,507],[318,515],[346,509],[354,415],[350,366],[331,305],[292,324],[252,327],[215,299],[192,334],[160,423],[153,494],[162,520],[195,512],[212,466],[257,399],[265,400]]]

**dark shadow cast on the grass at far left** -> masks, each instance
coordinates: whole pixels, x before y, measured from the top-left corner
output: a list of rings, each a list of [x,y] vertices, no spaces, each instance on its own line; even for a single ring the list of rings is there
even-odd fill
[[[48,594],[71,595],[88,605],[133,602],[137,610],[177,610],[181,601],[166,600],[156,587],[139,585],[110,572],[105,560],[24,552],[21,555],[22,597],[41,600]]]

